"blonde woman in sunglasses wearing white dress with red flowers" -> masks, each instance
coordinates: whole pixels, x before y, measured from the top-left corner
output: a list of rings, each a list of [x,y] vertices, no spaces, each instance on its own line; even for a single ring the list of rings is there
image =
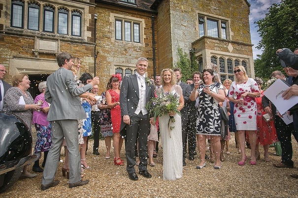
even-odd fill
[[[245,68],[241,65],[234,69],[235,81],[232,82],[229,91],[229,100],[234,105],[234,118],[239,136],[241,160],[239,166],[244,166],[245,154],[245,132],[247,132],[251,146],[251,165],[256,165],[256,139],[257,139],[257,104],[256,97],[260,97],[260,90],[256,81],[248,78]]]

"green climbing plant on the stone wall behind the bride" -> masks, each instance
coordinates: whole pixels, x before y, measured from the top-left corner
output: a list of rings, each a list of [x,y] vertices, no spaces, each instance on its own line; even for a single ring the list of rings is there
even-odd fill
[[[175,64],[175,67],[179,67],[181,69],[182,77],[181,81],[186,82],[187,79],[193,78],[193,73],[197,71],[198,62],[196,61],[195,56],[189,57],[187,53],[183,53],[182,48],[178,47],[178,60]]]

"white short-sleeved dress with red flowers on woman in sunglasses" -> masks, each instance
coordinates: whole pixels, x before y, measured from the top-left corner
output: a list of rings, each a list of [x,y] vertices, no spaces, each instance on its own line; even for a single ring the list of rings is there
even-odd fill
[[[260,92],[256,81],[249,78],[247,82],[242,84],[236,84],[232,82],[229,91],[229,97],[236,100],[240,99],[241,94],[245,92]],[[254,131],[257,130],[257,103],[254,97],[246,96],[243,98],[243,104],[234,105],[234,118],[236,123],[236,129],[239,131]]]

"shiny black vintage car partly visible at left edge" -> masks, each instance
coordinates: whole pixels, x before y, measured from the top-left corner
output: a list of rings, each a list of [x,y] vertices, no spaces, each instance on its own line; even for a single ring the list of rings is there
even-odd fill
[[[0,112],[0,192],[12,186],[23,167],[32,164],[32,136],[17,116]]]

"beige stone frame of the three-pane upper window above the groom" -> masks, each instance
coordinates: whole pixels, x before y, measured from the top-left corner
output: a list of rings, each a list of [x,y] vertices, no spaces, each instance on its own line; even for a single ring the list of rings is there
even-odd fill
[[[122,21],[122,38],[116,39],[116,21]],[[131,22],[131,41],[125,41],[124,39],[124,23]],[[125,43],[132,43],[135,45],[144,45],[144,28],[145,28],[145,21],[143,19],[139,19],[136,17],[124,16],[115,13],[110,14],[110,31],[112,32],[112,42],[125,42]],[[139,24],[139,42],[134,42],[133,39],[133,24]]]

